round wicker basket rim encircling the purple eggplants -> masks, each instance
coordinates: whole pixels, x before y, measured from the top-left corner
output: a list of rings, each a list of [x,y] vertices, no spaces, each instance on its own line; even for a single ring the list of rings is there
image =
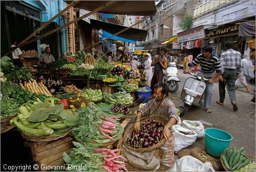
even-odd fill
[[[167,123],[167,119],[162,117],[162,116],[149,116],[149,117],[146,117],[145,119],[141,120],[141,122],[146,122],[148,121],[148,119],[153,119],[155,121],[158,121],[158,122],[162,122],[164,125]],[[126,140],[127,138],[129,138],[132,134],[132,132],[134,131],[134,125],[135,123],[131,124],[124,132],[123,134],[123,144],[126,146],[126,148],[128,148],[129,150],[131,151],[135,151],[135,152],[150,152],[150,151],[153,151],[159,147],[161,147],[164,142],[165,142],[165,139],[163,138],[161,141],[159,141],[157,144],[149,147],[149,148],[141,148],[141,149],[135,149],[133,148],[132,146],[128,145],[126,143]]]

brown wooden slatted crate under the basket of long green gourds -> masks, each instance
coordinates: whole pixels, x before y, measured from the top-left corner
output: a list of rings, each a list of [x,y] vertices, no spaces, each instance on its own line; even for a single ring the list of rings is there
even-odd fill
[[[65,164],[62,154],[64,152],[69,154],[72,151],[72,141],[73,137],[67,135],[57,140],[45,142],[25,140],[24,144],[25,148],[30,152],[32,160],[39,166],[37,171],[44,171],[44,169],[40,168],[42,164],[47,164],[48,166],[62,166]]]

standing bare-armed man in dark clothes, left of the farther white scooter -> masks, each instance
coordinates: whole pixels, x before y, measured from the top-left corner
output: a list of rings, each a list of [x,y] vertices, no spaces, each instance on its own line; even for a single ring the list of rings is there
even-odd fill
[[[160,50],[159,56],[154,56],[151,66],[154,67],[154,75],[151,80],[151,89],[154,89],[154,85],[156,83],[163,82],[163,70],[166,70],[167,68],[167,59],[164,57],[164,55],[167,53],[167,49],[162,47]]]

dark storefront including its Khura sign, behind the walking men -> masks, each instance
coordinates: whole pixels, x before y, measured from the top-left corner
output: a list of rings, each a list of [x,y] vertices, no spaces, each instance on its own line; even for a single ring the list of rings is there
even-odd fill
[[[212,52],[220,56],[225,51],[225,42],[233,41],[233,49],[244,54],[246,37],[238,36],[238,31],[239,23],[228,23],[209,28],[206,30],[206,36],[209,37],[206,44],[211,45]]]

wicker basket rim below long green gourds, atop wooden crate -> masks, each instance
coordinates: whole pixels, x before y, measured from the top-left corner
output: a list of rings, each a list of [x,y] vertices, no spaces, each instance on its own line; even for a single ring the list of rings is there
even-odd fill
[[[28,135],[24,134],[22,131],[19,131],[19,133],[20,133],[20,135],[22,135],[22,137],[25,140],[35,141],[35,142],[44,142],[44,141],[57,140],[59,138],[65,137],[65,136],[69,135],[72,132],[72,130],[73,130],[73,128],[67,130],[60,136],[28,136]]]

